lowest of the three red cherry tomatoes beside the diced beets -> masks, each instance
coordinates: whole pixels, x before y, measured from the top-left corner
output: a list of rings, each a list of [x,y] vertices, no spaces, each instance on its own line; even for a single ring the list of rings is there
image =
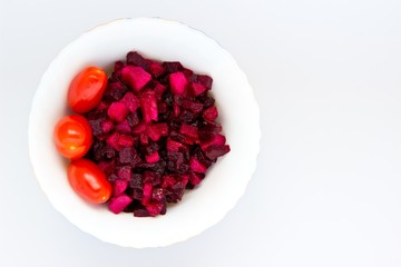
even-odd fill
[[[72,189],[89,202],[106,202],[111,196],[111,185],[106,175],[89,159],[72,160],[67,176]]]

